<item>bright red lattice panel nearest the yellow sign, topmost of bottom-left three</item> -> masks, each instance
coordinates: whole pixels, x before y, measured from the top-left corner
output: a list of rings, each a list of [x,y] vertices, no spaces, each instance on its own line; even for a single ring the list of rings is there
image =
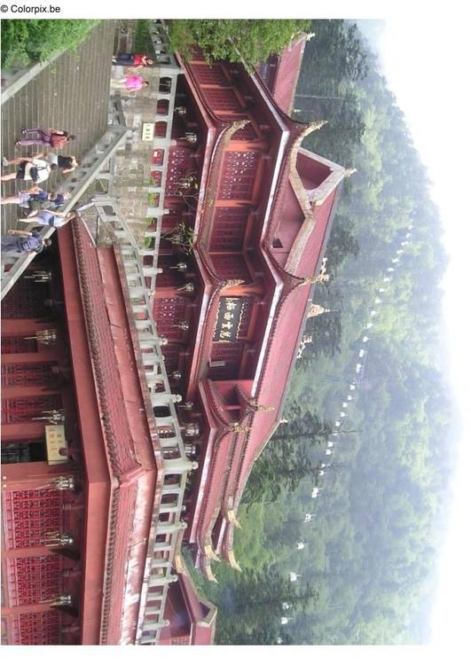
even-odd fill
[[[51,531],[67,530],[67,512],[58,489],[4,491],[4,528],[8,548],[38,547]]]

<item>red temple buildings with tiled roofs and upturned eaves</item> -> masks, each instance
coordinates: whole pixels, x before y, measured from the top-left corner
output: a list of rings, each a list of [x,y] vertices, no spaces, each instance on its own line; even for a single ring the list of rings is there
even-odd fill
[[[320,313],[313,285],[327,278],[345,169],[302,148],[324,119],[287,114],[302,41],[250,74],[170,54],[161,24],[153,38],[153,128],[134,142],[152,180],[144,237],[123,214],[137,193],[115,169],[120,134],[90,175],[107,169],[108,192],[88,204],[107,234],[90,232],[83,206],[7,277],[9,644],[213,642],[216,607],[182,545],[209,580],[215,560],[239,567],[240,500]],[[121,102],[116,128],[132,113]]]

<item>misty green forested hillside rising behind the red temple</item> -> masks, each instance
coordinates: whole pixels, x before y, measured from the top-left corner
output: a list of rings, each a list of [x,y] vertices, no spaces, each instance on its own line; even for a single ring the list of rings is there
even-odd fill
[[[219,606],[218,644],[420,644],[454,428],[440,371],[440,220],[403,113],[356,25],[314,20],[310,29],[294,117],[328,124],[304,147],[357,168],[326,250],[332,278],[314,296],[331,311],[308,323],[313,343],[296,365],[288,423],[248,482],[235,540],[243,572],[222,563],[217,586],[200,575],[196,583]],[[368,332],[363,381],[326,458],[369,312],[406,232]]]

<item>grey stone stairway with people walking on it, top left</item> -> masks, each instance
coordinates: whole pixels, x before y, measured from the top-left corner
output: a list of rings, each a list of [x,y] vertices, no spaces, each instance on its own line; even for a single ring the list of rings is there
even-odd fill
[[[23,146],[15,149],[22,127],[56,127],[77,137],[61,154],[80,157],[106,131],[110,93],[111,59],[114,49],[130,48],[128,21],[101,21],[75,51],[66,52],[46,67],[41,74],[17,92],[2,106],[2,155],[13,157],[37,154],[47,146]],[[2,168],[11,173],[12,167]],[[64,176],[52,173],[41,186],[57,190]],[[2,197],[9,196],[25,184],[2,183]],[[27,185],[26,185],[27,186]],[[20,208],[2,207],[2,234],[16,226]]]

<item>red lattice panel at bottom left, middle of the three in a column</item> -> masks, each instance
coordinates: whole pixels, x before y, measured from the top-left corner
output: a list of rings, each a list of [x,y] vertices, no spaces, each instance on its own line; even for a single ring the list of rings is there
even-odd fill
[[[60,557],[49,554],[6,560],[8,595],[12,605],[35,605],[59,595]]]

